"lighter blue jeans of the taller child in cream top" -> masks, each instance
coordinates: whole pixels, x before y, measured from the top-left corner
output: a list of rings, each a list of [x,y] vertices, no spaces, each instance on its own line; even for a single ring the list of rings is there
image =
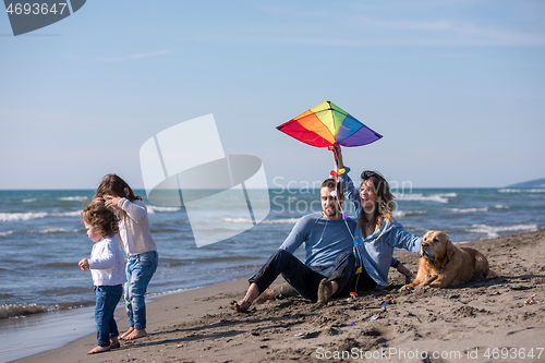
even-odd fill
[[[157,251],[130,256],[126,262],[126,317],[129,318],[129,326],[135,329],[146,328],[146,301],[144,295],[158,264],[159,255]]]

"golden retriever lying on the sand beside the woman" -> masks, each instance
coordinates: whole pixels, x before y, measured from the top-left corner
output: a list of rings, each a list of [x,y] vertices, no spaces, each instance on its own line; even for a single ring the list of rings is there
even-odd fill
[[[441,231],[429,231],[424,235],[419,256],[419,274],[402,290],[426,285],[446,288],[463,285],[473,278],[498,276],[488,267],[488,261],[482,253],[452,244],[448,234]]]

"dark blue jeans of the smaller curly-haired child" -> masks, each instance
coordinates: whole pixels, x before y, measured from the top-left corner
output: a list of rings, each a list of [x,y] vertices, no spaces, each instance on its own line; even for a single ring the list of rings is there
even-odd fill
[[[123,294],[123,286],[96,286],[95,323],[97,325],[98,346],[109,347],[110,338],[119,336],[113,312]]]

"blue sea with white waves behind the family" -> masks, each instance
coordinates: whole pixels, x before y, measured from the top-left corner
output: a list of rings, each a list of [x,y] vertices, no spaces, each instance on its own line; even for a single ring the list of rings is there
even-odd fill
[[[154,206],[145,191],[135,192],[147,205],[160,258],[147,299],[252,276],[301,216],[320,211],[317,189],[271,189],[265,220],[197,247],[183,206]],[[93,194],[0,191],[0,362],[59,348],[95,331],[92,278],[77,267],[93,245],[81,218]],[[463,243],[545,228],[545,189],[411,187],[395,195],[395,218],[417,235],[441,230]],[[230,208],[226,199],[202,210],[199,219],[209,221],[210,231],[249,222],[218,217],[218,209]],[[344,211],[354,214],[349,203]],[[296,255],[304,258],[302,247]]]

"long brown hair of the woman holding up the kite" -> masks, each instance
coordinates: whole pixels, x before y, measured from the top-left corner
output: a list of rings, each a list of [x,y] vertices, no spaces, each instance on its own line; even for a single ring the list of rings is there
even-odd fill
[[[373,192],[377,195],[377,204],[373,210],[373,218],[371,218],[371,220],[367,220],[365,210],[362,209],[360,219],[358,220],[358,228],[362,228],[362,226],[370,223],[374,226],[373,230],[376,231],[383,226],[385,220],[389,220],[390,222],[395,221],[392,213],[393,209],[396,209],[396,197],[391,194],[390,185],[379,172],[371,170],[362,172],[360,189],[367,180],[371,181]]]

